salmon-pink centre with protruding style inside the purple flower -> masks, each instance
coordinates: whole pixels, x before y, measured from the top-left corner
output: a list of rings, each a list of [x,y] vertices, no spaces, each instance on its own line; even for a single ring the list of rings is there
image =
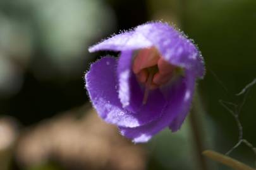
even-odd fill
[[[133,73],[138,82],[145,86],[143,105],[147,103],[149,91],[166,84],[173,77],[174,65],[164,60],[154,47],[138,52],[133,61]]]

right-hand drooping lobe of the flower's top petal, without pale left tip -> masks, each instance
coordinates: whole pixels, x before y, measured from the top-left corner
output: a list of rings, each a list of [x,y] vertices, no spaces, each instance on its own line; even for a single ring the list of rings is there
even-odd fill
[[[204,61],[197,47],[168,23],[146,23],[137,26],[135,32],[147,37],[170,64],[193,70],[198,77],[204,76]]]

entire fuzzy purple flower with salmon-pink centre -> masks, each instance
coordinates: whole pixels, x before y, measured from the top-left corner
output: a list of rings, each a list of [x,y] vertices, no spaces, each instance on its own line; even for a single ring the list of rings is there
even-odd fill
[[[113,50],[85,75],[94,108],[133,142],[147,142],[169,127],[180,129],[192,103],[196,79],[204,76],[197,47],[167,23],[151,22],[89,48]]]

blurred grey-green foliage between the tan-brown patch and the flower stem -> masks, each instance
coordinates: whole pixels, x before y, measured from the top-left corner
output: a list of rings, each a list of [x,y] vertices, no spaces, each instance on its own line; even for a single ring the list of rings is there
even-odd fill
[[[149,144],[150,152],[153,158],[161,164],[164,169],[191,169],[196,166],[193,160],[193,149],[191,144],[193,142],[190,137],[189,123],[185,122],[183,128],[178,133],[171,135],[169,130],[164,130],[159,133],[157,137],[152,139]],[[171,144],[171,145],[170,145]],[[180,145],[181,147],[177,147]],[[192,154],[188,154],[188,152]],[[187,164],[180,164],[179,160],[187,162]],[[149,169],[157,169],[157,167],[149,167]]]

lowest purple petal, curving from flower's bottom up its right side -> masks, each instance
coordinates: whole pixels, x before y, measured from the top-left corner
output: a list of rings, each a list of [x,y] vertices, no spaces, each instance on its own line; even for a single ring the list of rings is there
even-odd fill
[[[137,128],[119,127],[121,134],[133,139],[133,142],[139,143],[147,142],[153,135],[168,127],[168,125],[173,131],[178,130],[190,109],[194,87],[195,75],[186,74],[185,78],[171,86],[170,94],[168,95],[170,96],[169,105],[158,120]],[[188,95],[188,91],[190,91],[190,95]]]

